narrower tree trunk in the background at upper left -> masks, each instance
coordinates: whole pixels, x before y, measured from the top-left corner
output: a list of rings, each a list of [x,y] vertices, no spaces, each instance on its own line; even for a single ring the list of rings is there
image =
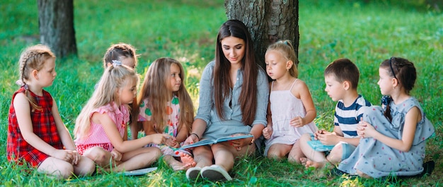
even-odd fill
[[[77,55],[73,0],[38,0],[40,42],[60,58]]]

